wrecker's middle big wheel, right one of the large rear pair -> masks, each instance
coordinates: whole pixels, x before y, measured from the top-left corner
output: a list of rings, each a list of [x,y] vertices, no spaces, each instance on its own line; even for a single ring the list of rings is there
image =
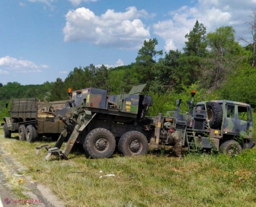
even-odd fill
[[[137,131],[126,132],[118,142],[118,149],[124,156],[139,156],[147,154],[147,138],[145,135]]]

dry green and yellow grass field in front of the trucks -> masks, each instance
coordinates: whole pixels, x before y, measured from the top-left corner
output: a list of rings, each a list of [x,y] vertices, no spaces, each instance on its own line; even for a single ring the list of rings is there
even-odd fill
[[[188,154],[183,160],[164,150],[97,160],[76,151],[69,160],[52,156],[47,162],[46,150],[35,154],[45,142],[12,137],[5,139],[0,129],[2,147],[28,169],[20,173],[49,186],[69,207],[256,206],[256,147],[233,157]]]

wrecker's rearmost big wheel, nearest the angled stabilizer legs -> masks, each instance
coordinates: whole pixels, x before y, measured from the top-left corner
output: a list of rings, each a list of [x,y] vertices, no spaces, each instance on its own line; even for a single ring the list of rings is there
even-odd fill
[[[95,128],[85,137],[83,149],[85,156],[92,158],[110,157],[115,150],[116,140],[112,133],[104,128]]]

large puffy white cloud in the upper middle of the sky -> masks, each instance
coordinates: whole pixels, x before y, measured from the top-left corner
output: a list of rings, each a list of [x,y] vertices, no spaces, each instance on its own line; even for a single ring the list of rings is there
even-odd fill
[[[65,42],[83,42],[101,47],[140,48],[143,41],[150,37],[141,16],[149,16],[145,10],[128,7],[126,12],[107,10],[96,16],[90,9],[81,7],[66,14],[63,28]]]

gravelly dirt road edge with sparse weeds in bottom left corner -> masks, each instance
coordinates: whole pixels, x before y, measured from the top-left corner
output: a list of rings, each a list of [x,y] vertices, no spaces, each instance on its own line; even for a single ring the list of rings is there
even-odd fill
[[[11,206],[24,206],[15,204],[13,200],[34,200],[40,203],[40,207],[64,207],[65,203],[57,198],[52,193],[50,188],[43,184],[37,183],[29,175],[24,175],[22,172],[26,171],[27,168],[22,166],[12,154],[5,151],[4,146],[0,144],[0,183],[5,188],[5,192],[8,191],[11,196]],[[3,195],[6,196],[6,195]],[[2,198],[2,195],[1,195]],[[3,199],[3,198],[2,198]],[[29,206],[38,206],[38,204],[30,204]]]

